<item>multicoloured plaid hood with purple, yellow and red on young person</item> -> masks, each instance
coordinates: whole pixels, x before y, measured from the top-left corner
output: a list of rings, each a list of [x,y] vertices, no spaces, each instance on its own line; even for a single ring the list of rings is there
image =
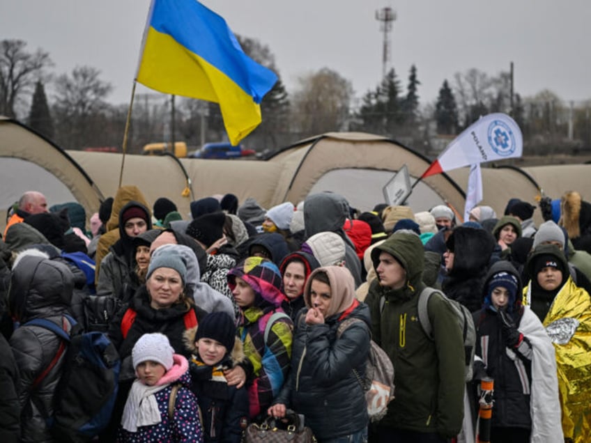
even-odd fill
[[[236,277],[240,277],[254,290],[255,306],[270,304],[281,306],[284,300],[282,293],[281,272],[272,261],[262,257],[247,257],[236,267],[228,271],[228,286],[236,288]]]

